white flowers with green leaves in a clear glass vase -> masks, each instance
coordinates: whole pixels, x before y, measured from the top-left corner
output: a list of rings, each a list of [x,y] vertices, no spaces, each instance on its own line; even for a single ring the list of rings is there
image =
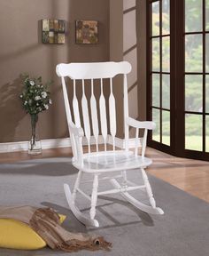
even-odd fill
[[[21,75],[23,83],[23,91],[19,95],[22,100],[23,108],[31,117],[31,140],[28,143],[28,153],[32,155],[42,153],[41,141],[36,134],[36,124],[38,122],[38,114],[47,110],[52,103],[50,92],[48,90],[51,82],[43,84],[42,76],[31,78],[28,75]]]

